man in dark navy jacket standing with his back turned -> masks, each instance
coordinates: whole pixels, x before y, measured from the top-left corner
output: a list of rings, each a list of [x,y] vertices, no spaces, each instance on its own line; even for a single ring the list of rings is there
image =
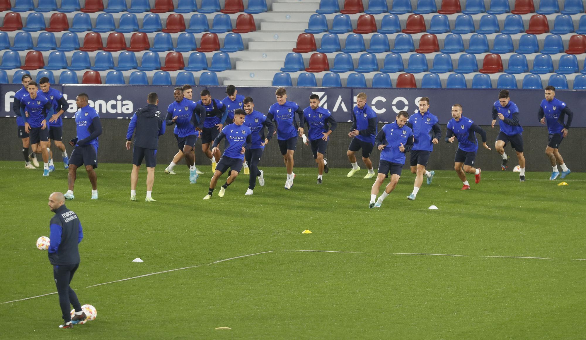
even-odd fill
[[[152,186],[155,183],[156,149],[159,148],[159,136],[165,133],[165,119],[159,111],[159,96],[151,92],[147,96],[147,107],[139,108],[134,112],[128,132],[126,133],[126,149],[132,145],[134,132],[134,149],[132,150],[132,173],[130,174],[130,200],[137,200],[138,171],[142,160],[147,164],[147,198],[145,201],[154,202]]]

